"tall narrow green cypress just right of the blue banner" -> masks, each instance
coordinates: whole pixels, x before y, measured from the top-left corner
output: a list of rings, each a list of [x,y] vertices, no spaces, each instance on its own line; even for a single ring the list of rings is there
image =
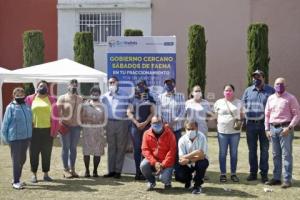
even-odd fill
[[[206,84],[206,41],[205,30],[201,25],[189,28],[188,43],[188,94],[195,85],[200,85],[203,95]]]

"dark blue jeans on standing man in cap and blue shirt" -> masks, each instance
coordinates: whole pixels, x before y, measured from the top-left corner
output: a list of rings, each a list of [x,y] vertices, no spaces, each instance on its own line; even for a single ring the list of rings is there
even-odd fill
[[[259,140],[259,168],[261,175],[267,176],[269,170],[269,140],[266,136],[264,123],[253,123],[248,121],[246,127],[250,173],[257,174],[258,171],[257,141]]]

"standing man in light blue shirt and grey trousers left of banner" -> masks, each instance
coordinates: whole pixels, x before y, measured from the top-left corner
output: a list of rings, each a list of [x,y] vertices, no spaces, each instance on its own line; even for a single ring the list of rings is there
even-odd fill
[[[106,135],[108,143],[108,174],[104,178],[121,178],[126,147],[128,143],[129,121],[127,109],[131,97],[119,89],[117,77],[108,80],[109,91],[101,99],[107,111]]]

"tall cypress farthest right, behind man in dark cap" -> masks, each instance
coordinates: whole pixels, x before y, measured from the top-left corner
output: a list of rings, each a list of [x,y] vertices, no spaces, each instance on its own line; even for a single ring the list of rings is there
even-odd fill
[[[248,73],[247,84],[252,85],[252,73],[259,69],[269,80],[268,26],[262,23],[251,24],[248,28]]]

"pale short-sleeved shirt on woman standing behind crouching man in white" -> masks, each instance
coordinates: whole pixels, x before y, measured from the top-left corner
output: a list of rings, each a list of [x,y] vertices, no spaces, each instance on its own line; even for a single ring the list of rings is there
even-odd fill
[[[206,117],[209,112],[212,112],[209,102],[204,99],[199,103],[195,102],[194,99],[185,102],[187,120],[195,120],[198,124],[198,131],[204,134],[208,132]]]

